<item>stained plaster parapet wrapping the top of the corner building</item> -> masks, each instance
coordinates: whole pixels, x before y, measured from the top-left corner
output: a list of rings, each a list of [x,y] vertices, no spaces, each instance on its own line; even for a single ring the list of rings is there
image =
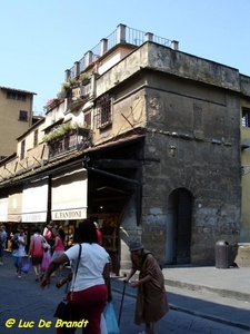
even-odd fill
[[[146,42],[98,79],[97,96],[104,94],[143,68],[152,68],[198,82],[240,91],[237,69],[153,42]]]

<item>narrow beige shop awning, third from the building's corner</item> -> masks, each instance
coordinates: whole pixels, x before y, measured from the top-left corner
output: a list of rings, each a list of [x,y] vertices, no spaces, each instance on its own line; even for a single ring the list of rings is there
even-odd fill
[[[22,187],[9,193],[7,222],[20,223],[22,213]]]

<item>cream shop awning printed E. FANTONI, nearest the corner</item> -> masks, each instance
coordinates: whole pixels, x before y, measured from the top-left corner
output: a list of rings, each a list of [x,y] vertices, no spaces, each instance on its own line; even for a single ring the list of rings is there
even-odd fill
[[[87,217],[88,173],[84,168],[67,169],[52,178],[52,220],[73,220]]]

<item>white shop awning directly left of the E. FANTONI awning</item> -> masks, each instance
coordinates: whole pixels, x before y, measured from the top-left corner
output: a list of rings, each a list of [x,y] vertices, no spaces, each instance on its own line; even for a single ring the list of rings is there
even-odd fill
[[[48,213],[49,178],[23,186],[22,223],[46,223]]]

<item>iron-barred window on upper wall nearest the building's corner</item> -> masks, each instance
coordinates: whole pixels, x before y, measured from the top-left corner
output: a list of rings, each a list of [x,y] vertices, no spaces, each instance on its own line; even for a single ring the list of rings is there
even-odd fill
[[[106,94],[97,101],[97,127],[109,126],[112,122],[111,116],[111,98]]]

